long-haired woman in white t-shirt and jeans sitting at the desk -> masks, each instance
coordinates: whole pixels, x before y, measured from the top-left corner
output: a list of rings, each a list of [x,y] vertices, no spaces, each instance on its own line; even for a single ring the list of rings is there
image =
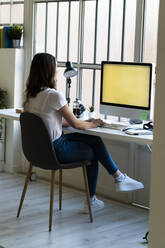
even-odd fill
[[[55,57],[47,53],[36,54],[32,60],[27,80],[24,110],[38,114],[43,119],[61,163],[91,161],[91,166],[87,167],[87,176],[92,208],[104,207],[104,203],[95,195],[98,162],[114,178],[117,192],[142,189],[141,182],[120,172],[100,137],[82,133],[62,133],[62,126],[70,125],[79,130],[86,130],[101,126],[104,122],[101,119],[89,121],[77,119],[69,109],[64,96],[56,90],[56,81]]]

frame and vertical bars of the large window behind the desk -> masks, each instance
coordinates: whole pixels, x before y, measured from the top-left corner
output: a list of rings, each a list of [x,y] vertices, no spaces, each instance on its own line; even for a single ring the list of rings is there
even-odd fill
[[[93,92],[92,92],[92,104],[95,104],[95,78],[96,70],[101,70],[101,64],[96,63],[96,47],[97,47],[97,14],[98,14],[98,1],[99,0],[28,0],[28,8],[31,9],[31,19],[32,21],[28,24],[28,30],[30,31],[29,38],[31,38],[31,45],[25,47],[25,55],[27,57],[26,65],[30,65],[30,61],[35,52],[35,13],[36,13],[36,4],[37,3],[46,3],[46,6],[50,2],[56,2],[57,8],[59,8],[59,3],[68,2],[69,4],[69,14],[68,14],[68,25],[70,25],[70,6],[71,2],[79,2],[79,24],[78,24],[78,53],[77,53],[77,63],[73,63],[73,66],[77,68],[77,86],[76,86],[76,97],[81,99],[82,97],[82,70],[91,69],[93,70]],[[95,39],[94,39],[94,60],[93,63],[83,63],[83,22],[84,22],[84,9],[86,1],[95,1],[96,2],[96,12],[95,12]],[[110,27],[111,27],[111,5],[113,0],[109,0],[109,17],[108,17],[108,42],[107,42],[107,60],[110,58]],[[125,11],[126,11],[126,1],[123,0],[123,24],[122,24],[122,42],[121,42],[121,61],[124,58],[124,33],[125,33]],[[27,1],[25,1],[27,5]],[[26,5],[25,8],[26,9]],[[47,8],[46,8],[47,9]],[[143,62],[143,53],[144,53],[144,39],[145,39],[145,9],[146,9],[146,0],[136,0],[136,23],[135,23],[135,45],[134,45],[134,62]],[[57,11],[58,12],[58,11]],[[27,20],[27,14],[25,16],[25,26],[29,22]],[[57,13],[57,36],[56,36],[56,57],[58,61],[58,13]],[[30,25],[30,26],[29,26]],[[46,35],[45,35],[46,37]],[[68,26],[68,38],[67,38],[67,61],[69,58],[69,42],[70,42],[70,26]],[[45,38],[46,44],[46,38]],[[46,45],[45,45],[46,49]],[[46,51],[46,50],[45,50]],[[31,56],[29,56],[29,54]],[[65,67],[66,61],[58,61],[59,67]]]

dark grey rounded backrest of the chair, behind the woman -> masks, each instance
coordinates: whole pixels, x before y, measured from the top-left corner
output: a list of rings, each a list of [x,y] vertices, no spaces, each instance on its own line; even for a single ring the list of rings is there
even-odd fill
[[[43,169],[59,169],[60,163],[43,120],[36,114],[20,116],[22,148],[26,159]]]

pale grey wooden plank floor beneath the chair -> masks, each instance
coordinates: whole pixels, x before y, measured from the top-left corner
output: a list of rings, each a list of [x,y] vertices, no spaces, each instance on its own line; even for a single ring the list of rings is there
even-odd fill
[[[84,194],[64,188],[58,211],[58,186],[52,232],[48,232],[49,183],[31,182],[21,216],[16,218],[23,175],[0,173],[0,245],[5,248],[146,248],[148,212],[104,199],[94,222],[82,213]]]

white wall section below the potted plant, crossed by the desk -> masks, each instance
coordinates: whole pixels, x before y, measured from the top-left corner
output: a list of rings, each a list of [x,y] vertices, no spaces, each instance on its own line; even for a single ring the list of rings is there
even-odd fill
[[[8,108],[22,106],[24,85],[24,50],[0,49],[0,87],[8,93]],[[17,171],[22,164],[20,153],[20,125],[18,121],[6,121],[5,163],[6,171]],[[13,149],[14,148],[14,149]]]

